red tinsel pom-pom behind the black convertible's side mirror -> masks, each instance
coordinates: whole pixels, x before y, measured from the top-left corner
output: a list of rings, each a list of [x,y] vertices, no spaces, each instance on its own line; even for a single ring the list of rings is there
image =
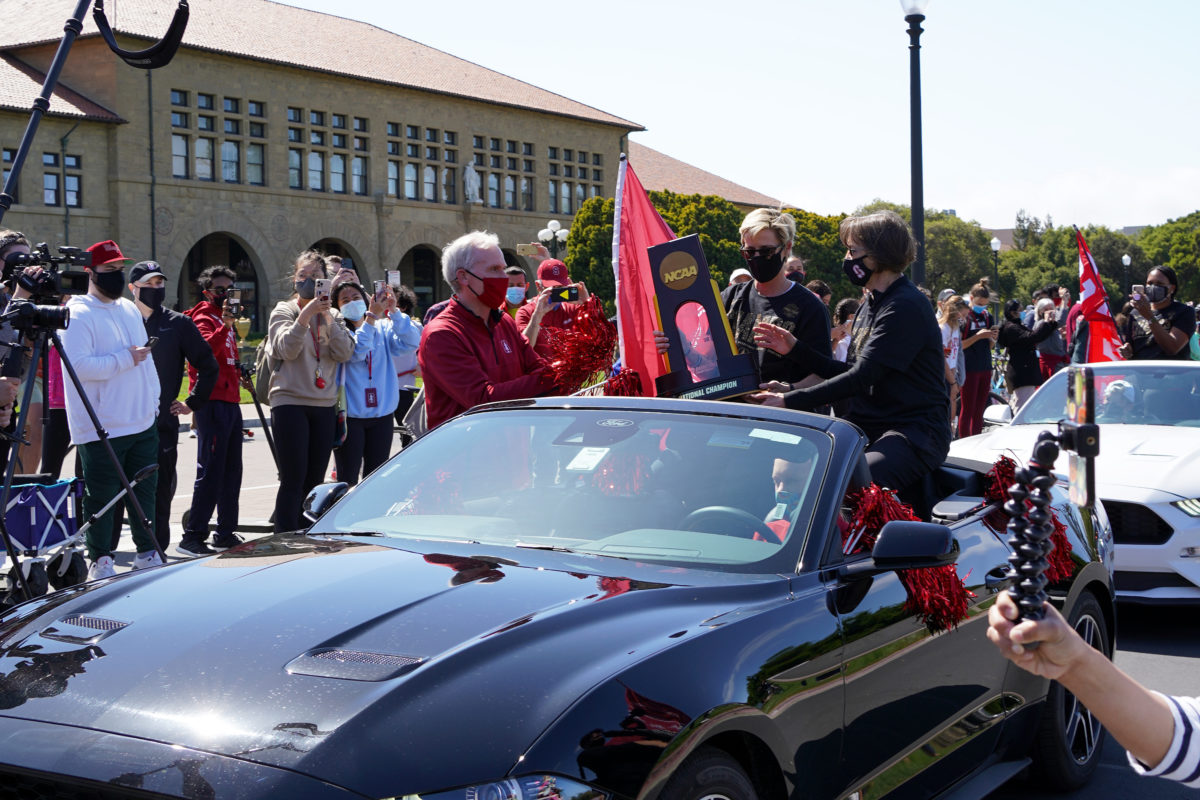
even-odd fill
[[[854,509],[850,527],[842,531],[842,552],[866,553],[883,525],[893,519],[918,521],[910,506],[896,499],[892,489],[871,483],[848,498]],[[974,596],[959,578],[953,564],[925,570],[901,570],[900,583],[908,595],[905,609],[914,614],[934,633],[948,631],[967,616],[968,600]]]

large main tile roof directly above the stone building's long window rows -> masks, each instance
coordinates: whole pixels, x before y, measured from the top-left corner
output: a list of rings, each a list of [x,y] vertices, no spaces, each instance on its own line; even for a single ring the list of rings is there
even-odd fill
[[[76,0],[0,0],[0,19],[6,23],[0,49],[60,40],[76,5]],[[172,0],[115,0],[106,12],[116,34],[157,41],[175,7]],[[97,35],[89,13],[80,36]],[[270,0],[193,2],[184,47],[642,130],[374,25]]]

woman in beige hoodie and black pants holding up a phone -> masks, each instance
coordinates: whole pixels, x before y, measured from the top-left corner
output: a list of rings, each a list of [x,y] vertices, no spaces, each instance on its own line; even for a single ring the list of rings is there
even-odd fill
[[[275,306],[266,326],[266,351],[278,365],[268,392],[280,469],[276,531],[304,527],[301,504],[325,475],[334,451],[337,365],[354,351],[354,338],[329,294],[317,296],[317,278],[324,277],[320,253],[300,253],[293,270],[296,294]]]

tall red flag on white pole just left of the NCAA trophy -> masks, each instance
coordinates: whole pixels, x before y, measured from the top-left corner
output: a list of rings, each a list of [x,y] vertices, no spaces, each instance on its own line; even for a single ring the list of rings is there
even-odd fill
[[[636,369],[642,392],[654,397],[654,379],[666,372],[662,356],[654,348],[654,331],[661,329],[654,311],[654,278],[647,247],[661,245],[676,235],[662,222],[642,188],[629,161],[620,157],[617,172],[617,205],[612,215],[612,272],[617,282],[617,330],[620,335],[620,363]]]

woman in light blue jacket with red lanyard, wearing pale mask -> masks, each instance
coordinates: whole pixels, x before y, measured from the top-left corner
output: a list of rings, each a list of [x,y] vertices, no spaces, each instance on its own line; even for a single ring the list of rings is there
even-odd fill
[[[391,455],[391,414],[400,402],[392,356],[415,350],[406,335],[413,325],[396,309],[391,288],[368,299],[358,283],[337,288],[336,306],[354,333],[354,354],[341,368],[346,374],[346,441],[334,451],[337,480],[350,486],[366,477]]]

